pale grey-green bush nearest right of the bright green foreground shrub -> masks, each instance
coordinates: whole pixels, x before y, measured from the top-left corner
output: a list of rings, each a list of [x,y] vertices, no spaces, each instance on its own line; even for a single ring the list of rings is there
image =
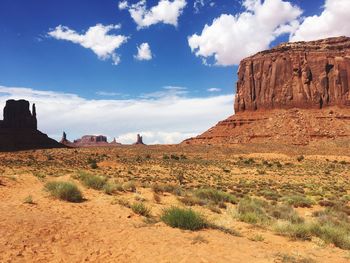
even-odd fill
[[[263,200],[244,198],[238,203],[237,217],[240,221],[249,224],[265,224],[269,221],[264,209],[267,205]]]

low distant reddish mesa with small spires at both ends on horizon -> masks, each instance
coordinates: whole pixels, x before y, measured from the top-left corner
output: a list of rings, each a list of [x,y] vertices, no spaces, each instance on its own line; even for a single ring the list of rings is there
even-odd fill
[[[69,147],[99,147],[99,146],[117,146],[121,145],[114,138],[112,142],[107,141],[107,137],[104,135],[84,135],[80,139],[76,139],[73,142],[67,139],[67,134],[63,132],[60,143]]]

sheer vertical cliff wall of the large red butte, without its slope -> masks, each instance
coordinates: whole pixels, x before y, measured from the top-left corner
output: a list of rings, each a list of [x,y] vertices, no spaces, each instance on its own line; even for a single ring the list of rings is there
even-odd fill
[[[350,106],[350,38],[284,43],[243,59],[235,113]]]

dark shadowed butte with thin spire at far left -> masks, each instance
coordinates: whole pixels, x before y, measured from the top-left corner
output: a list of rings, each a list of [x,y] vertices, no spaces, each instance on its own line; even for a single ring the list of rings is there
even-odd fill
[[[8,100],[0,121],[0,151],[60,148],[64,145],[38,131],[36,107],[26,100]]]

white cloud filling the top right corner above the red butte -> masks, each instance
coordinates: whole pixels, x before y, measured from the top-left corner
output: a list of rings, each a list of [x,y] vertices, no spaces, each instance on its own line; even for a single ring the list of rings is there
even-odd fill
[[[326,0],[321,15],[304,18],[291,41],[309,41],[327,37],[350,36],[350,1]]]

